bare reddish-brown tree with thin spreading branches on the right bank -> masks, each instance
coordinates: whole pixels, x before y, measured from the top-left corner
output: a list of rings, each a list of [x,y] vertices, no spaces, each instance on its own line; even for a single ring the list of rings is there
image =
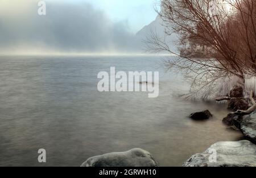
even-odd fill
[[[199,58],[171,51],[156,33],[147,39],[150,50],[176,54],[166,65],[193,79],[191,95],[220,78],[236,76],[243,85],[245,75],[256,75],[255,0],[160,0],[160,5],[167,36],[179,34],[184,50],[192,43],[207,49]]]

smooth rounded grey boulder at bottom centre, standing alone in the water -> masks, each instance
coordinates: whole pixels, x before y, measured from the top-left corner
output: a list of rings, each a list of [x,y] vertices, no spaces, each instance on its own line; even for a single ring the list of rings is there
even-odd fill
[[[153,156],[142,149],[126,152],[112,152],[94,156],[82,163],[81,167],[158,167]]]

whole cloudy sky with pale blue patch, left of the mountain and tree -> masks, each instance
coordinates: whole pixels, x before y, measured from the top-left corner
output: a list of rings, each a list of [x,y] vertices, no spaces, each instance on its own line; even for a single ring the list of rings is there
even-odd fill
[[[156,0],[0,0],[0,52],[131,52]]]

